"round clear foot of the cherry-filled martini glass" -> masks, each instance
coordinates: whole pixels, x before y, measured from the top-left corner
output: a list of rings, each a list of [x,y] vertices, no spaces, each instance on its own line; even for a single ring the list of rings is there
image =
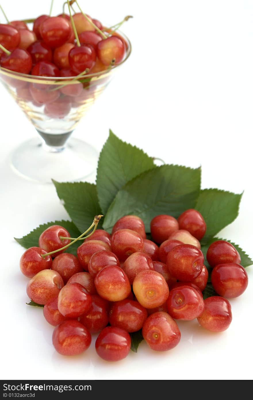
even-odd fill
[[[54,152],[40,139],[30,139],[16,148],[11,159],[16,173],[40,183],[52,183],[52,179],[58,182],[82,180],[94,172],[97,163],[96,149],[75,138]]]

